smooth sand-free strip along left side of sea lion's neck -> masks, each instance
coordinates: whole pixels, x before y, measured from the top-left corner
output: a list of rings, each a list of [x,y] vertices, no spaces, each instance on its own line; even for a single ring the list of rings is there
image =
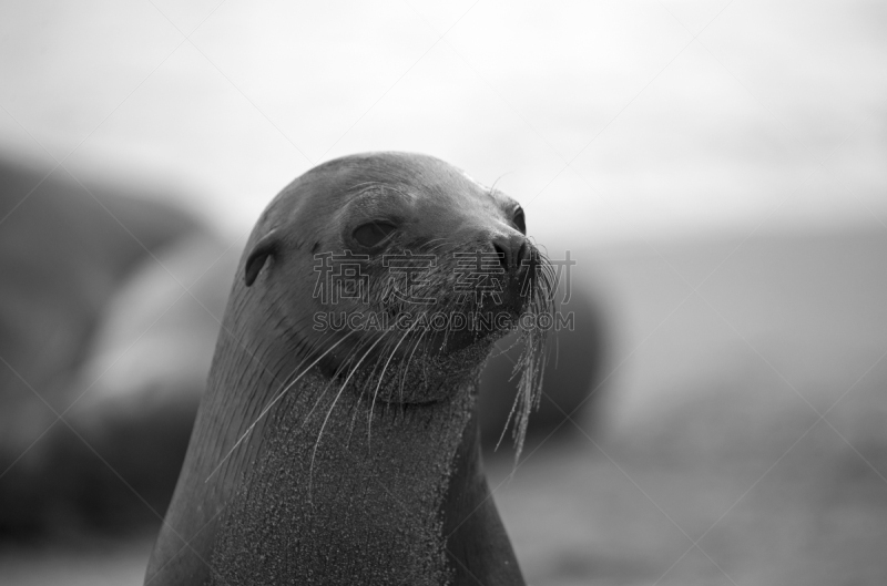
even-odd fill
[[[243,265],[243,263],[242,263]],[[273,336],[276,316],[256,312],[235,280],[175,493],[145,583],[204,584],[215,533],[239,483],[252,474],[269,418],[263,410],[300,364]]]

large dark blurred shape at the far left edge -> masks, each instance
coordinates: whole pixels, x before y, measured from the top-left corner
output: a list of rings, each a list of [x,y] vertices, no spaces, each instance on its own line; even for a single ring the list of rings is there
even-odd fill
[[[120,284],[202,230],[147,189],[50,171],[0,158],[0,534],[77,510],[69,504],[86,475],[64,453],[82,442],[55,413],[75,400],[72,383]]]

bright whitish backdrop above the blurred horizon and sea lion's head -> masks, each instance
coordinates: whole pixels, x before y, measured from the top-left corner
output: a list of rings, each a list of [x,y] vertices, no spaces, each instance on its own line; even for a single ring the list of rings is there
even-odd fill
[[[498,181],[541,237],[878,225],[886,49],[874,1],[7,0],[0,147],[239,230],[373,150]]]

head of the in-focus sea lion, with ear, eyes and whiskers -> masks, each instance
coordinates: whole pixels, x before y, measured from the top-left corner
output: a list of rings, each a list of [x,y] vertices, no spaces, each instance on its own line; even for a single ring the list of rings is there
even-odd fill
[[[521,316],[550,311],[521,206],[426,155],[353,155],[302,175],[259,218],[241,270],[297,352],[388,402],[446,398]],[[539,332],[528,339],[524,366],[540,358]]]

